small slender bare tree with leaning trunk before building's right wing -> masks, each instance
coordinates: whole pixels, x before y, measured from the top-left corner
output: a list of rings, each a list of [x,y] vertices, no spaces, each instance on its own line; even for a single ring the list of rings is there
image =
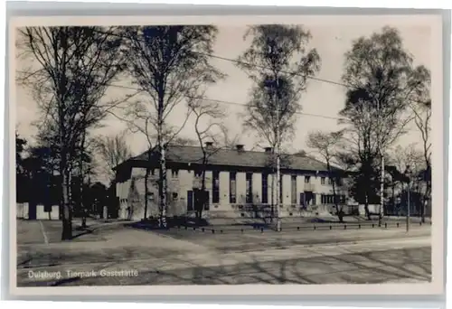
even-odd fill
[[[333,185],[333,198],[334,198],[334,207],[336,210],[337,218],[342,222],[344,220],[344,211],[339,208],[339,201],[337,199],[336,194],[336,185],[341,181],[340,178],[342,174],[338,174],[339,169],[334,168],[332,163],[334,161],[337,146],[342,142],[342,131],[338,132],[322,132],[315,131],[309,133],[307,136],[307,146],[311,149],[314,149],[318,155],[322,156],[326,163],[326,169],[328,170],[328,176],[332,181]]]

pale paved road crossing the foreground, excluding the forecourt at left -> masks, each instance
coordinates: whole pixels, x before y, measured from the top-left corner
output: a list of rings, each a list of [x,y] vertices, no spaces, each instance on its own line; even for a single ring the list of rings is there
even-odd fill
[[[152,237],[156,241],[162,236]],[[19,286],[363,284],[426,282],[431,274],[430,239],[425,236],[228,252],[205,243],[163,239],[160,246],[143,243],[109,260],[63,258],[60,265],[19,267],[17,281]],[[168,251],[175,247],[178,250]],[[31,277],[40,273],[61,277]]]

